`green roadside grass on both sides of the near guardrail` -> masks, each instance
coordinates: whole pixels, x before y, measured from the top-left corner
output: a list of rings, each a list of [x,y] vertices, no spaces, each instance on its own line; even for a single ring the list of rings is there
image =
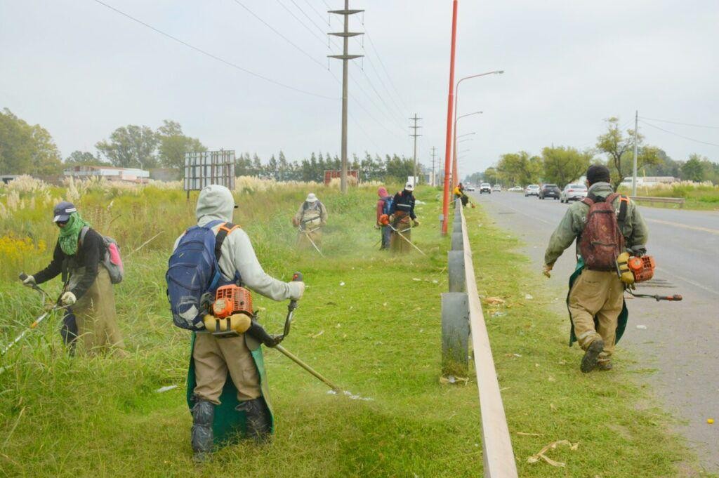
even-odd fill
[[[373,246],[376,195],[354,189],[348,196],[315,191],[329,209],[321,260],[293,248],[289,218],[306,193],[296,190],[242,193],[237,222],[247,229],[268,272],[289,280],[305,273],[308,288],[283,343],[346,390],[372,400],[329,395],[327,387],[278,354],[265,350],[277,418],[272,443],[241,443],[213,461],[191,461],[191,416],[184,400],[189,334],[172,325],[163,275],[170,247],[192,224],[183,200],[127,201],[137,213],[120,218],[130,228],[144,207],[168,218],[164,245],[153,243],[128,257],[127,281],[116,287],[119,326],[129,357],[66,357],[50,321],[6,357],[0,375],[0,470],[6,476],[245,476],[245,477],[476,477],[482,469],[477,384],[441,385],[439,294],[446,291],[446,248],[435,218],[439,193],[418,188],[422,226],[418,247],[391,257]],[[176,196],[176,195],[175,195]],[[174,198],[174,196],[173,196]],[[88,201],[90,201],[88,199]],[[100,193],[96,208],[110,199]],[[150,201],[150,206],[143,201]],[[91,206],[87,203],[86,207]],[[281,211],[252,216],[252,211]],[[47,211],[38,214],[45,220]],[[269,218],[269,220],[267,220]],[[40,219],[38,219],[40,221]],[[123,221],[127,221],[124,224]],[[9,222],[2,234],[9,233]],[[147,237],[158,223],[148,222]],[[626,372],[581,374],[580,353],[567,348],[567,318],[549,313],[551,300],[515,252],[517,242],[487,225],[480,209],[467,209],[480,294],[503,299],[485,305],[495,362],[522,477],[657,477],[674,474],[686,458],[667,433],[667,415],[641,406],[644,392]],[[480,227],[480,224],[483,224]],[[40,226],[38,226],[40,227]],[[40,229],[45,231],[45,229]],[[49,229],[43,239],[52,244]],[[122,237],[122,236],[121,236]],[[47,255],[47,252],[45,253]],[[19,257],[33,270],[50,257]],[[22,262],[27,260],[29,262]],[[32,291],[0,279],[1,340],[5,344],[37,312]],[[59,286],[48,285],[52,293]],[[533,300],[526,300],[530,292]],[[255,295],[267,308],[261,321],[279,331],[286,303]],[[498,312],[493,317],[492,314]],[[619,367],[623,369],[623,367]],[[168,392],[160,387],[178,385]],[[546,444],[545,461],[528,463]]]

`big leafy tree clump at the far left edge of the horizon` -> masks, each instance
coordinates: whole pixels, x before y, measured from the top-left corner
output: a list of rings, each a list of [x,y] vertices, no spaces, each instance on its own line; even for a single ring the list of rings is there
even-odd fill
[[[45,128],[27,124],[9,109],[0,112],[1,173],[55,175],[61,169],[60,152]]]

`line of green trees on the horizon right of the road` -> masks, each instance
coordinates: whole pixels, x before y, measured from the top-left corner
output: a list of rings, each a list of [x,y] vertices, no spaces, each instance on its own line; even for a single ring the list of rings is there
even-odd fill
[[[664,150],[644,143],[644,136],[636,135],[637,170],[642,176],[674,176],[682,180],[712,181],[719,184],[719,164],[707,157],[692,154],[686,161],[675,161]],[[500,156],[495,165],[481,173],[467,176],[469,182],[486,181],[507,186],[532,183],[564,185],[578,180],[591,164],[604,164],[612,174],[616,187],[632,175],[634,131],[619,128],[619,119],[606,120],[606,130],[597,137],[595,147],[578,150],[574,147],[545,147],[541,155],[526,151]]]

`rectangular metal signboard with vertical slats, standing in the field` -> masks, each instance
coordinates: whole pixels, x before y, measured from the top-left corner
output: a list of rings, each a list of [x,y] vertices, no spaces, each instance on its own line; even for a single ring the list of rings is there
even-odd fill
[[[184,176],[183,186],[188,194],[210,184],[233,190],[234,150],[186,152]]]

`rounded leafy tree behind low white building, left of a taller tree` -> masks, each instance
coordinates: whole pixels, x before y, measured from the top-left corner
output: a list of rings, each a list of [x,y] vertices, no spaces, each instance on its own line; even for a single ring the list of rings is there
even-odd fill
[[[110,134],[109,141],[101,141],[95,147],[114,166],[150,169],[157,166],[157,145],[160,139],[150,127],[128,124]]]

